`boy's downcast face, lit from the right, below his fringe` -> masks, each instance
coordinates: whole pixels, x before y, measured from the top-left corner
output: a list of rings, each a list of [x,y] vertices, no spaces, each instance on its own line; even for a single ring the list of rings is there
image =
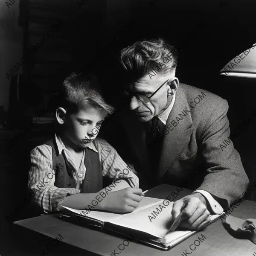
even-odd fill
[[[77,113],[66,113],[64,116],[64,134],[82,148],[88,147],[95,140],[105,119],[105,114],[91,105],[87,105]]]

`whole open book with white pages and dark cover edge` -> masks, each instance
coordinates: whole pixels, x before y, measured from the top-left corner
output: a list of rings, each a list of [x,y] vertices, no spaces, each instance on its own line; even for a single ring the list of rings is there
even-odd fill
[[[168,204],[169,203],[169,204]],[[196,231],[175,230],[169,231],[172,226],[173,202],[143,197],[139,206],[131,213],[118,214],[102,211],[68,209],[75,215],[84,217],[88,223],[102,227],[125,236],[132,236],[134,241],[151,244],[154,247],[168,250],[180,243]],[[211,222],[220,215],[210,215]]]

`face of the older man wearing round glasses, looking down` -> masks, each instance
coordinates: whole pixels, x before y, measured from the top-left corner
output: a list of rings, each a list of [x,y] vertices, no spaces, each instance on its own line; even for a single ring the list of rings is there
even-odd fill
[[[173,78],[174,75],[154,77],[145,76],[141,77],[130,85],[130,90],[133,93],[143,93],[147,96],[151,96],[155,90],[157,90],[166,80]],[[139,120],[147,122],[154,116],[159,115],[169,105],[172,96],[168,96],[170,87],[166,82],[158,91],[150,98],[149,102],[141,102],[136,96],[131,98],[130,109],[136,112]]]

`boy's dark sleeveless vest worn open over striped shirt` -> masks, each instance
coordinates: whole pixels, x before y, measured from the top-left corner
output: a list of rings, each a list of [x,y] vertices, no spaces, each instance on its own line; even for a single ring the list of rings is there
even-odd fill
[[[58,147],[55,140],[48,140],[44,144],[52,147],[52,167],[54,169],[53,173],[55,174],[54,186],[58,188],[76,189],[76,181],[67,172],[67,168],[70,167],[66,164],[63,154],[58,155]],[[102,189],[102,168],[98,153],[85,148],[84,165],[86,167],[86,173],[81,185],[81,193],[96,193]]]

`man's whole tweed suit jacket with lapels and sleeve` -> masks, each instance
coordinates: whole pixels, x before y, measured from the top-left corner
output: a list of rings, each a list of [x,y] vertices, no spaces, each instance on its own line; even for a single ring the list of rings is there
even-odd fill
[[[163,129],[158,168],[153,172],[149,171],[146,146],[148,122],[140,122],[132,111],[122,117],[129,148],[139,163],[135,169],[140,181],[151,176],[157,184],[203,189],[222,207],[230,206],[246,191],[249,180],[229,138],[227,111],[225,99],[180,83]]]

